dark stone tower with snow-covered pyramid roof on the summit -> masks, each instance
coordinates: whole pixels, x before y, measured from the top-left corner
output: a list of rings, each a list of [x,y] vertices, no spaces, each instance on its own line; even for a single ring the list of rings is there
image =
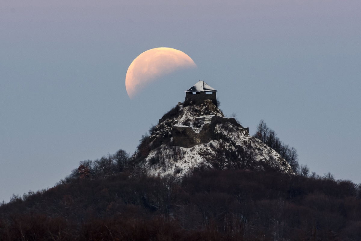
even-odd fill
[[[211,100],[217,106],[217,91],[203,80],[199,80],[199,82],[184,92],[186,92],[185,103],[200,104],[204,100]]]

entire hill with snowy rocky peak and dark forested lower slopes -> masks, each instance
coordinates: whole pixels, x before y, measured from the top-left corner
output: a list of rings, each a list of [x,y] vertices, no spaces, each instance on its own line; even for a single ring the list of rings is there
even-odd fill
[[[361,186],[299,168],[263,121],[250,136],[205,100],[149,132],[2,203],[0,240],[360,240]]]

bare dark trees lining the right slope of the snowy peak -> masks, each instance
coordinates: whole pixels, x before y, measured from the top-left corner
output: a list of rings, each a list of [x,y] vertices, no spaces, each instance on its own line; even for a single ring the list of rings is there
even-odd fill
[[[293,172],[298,173],[305,172],[307,170],[306,166],[299,166],[297,150],[287,144],[284,144],[277,137],[275,131],[267,126],[264,120],[260,121],[260,124],[257,126],[256,133],[253,136],[263,141],[266,145],[286,159],[292,167]]]

